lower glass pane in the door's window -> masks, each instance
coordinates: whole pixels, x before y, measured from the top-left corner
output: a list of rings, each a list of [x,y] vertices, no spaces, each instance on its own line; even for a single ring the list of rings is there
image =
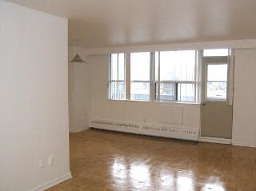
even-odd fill
[[[226,82],[207,82],[207,98],[226,99]]]

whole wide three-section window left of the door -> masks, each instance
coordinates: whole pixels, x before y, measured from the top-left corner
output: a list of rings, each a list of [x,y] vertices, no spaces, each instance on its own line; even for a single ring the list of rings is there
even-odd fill
[[[195,102],[196,50],[127,55],[110,54],[110,99]]]

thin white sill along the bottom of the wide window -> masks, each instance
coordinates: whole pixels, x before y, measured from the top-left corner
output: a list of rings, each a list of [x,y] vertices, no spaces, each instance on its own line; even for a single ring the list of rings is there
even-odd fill
[[[124,101],[124,102],[141,102],[141,103],[153,103],[164,105],[201,105],[201,103],[184,102],[184,101],[143,101],[143,100],[130,100],[130,99],[107,99],[108,101]]]

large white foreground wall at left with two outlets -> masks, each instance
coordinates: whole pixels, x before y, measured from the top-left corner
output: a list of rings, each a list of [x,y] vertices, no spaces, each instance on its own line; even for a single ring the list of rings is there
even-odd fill
[[[0,0],[0,23],[0,190],[36,190],[70,177],[67,20]]]

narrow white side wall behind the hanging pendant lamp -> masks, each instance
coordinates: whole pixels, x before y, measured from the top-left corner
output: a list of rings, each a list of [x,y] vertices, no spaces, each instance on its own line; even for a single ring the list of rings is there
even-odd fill
[[[90,65],[81,47],[69,47],[69,60],[74,58],[76,51],[86,63],[69,64],[70,132],[90,127]]]

